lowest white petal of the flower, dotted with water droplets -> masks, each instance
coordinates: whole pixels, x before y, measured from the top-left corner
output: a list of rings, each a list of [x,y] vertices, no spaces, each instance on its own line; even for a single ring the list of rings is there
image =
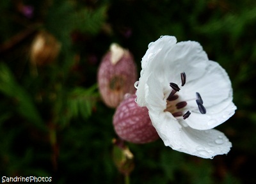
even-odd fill
[[[150,119],[165,146],[173,150],[202,158],[227,154],[232,147],[225,135],[218,130],[194,130],[181,127],[168,112],[149,111]]]

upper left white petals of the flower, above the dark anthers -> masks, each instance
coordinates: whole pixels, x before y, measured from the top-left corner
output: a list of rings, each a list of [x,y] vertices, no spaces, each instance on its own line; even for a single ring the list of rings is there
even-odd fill
[[[154,73],[164,88],[170,92],[170,82],[181,83],[180,73],[185,72],[187,82],[200,79],[205,73],[208,57],[198,42],[179,42],[173,36],[163,36],[150,43],[141,61],[141,77],[136,92],[137,103],[145,106],[145,82],[150,73]],[[180,85],[179,85],[180,86]]]

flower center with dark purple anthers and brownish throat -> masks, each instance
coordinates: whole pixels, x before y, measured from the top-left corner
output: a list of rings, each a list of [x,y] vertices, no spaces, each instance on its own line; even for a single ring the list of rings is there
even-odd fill
[[[185,72],[180,73],[180,78],[181,78],[181,86],[184,86],[186,84],[186,73]],[[179,100],[179,95],[177,95],[177,92],[180,91],[180,88],[177,84],[170,82],[170,87],[172,88],[172,91],[168,96],[168,98],[166,99],[166,109],[164,109],[164,112],[168,111],[172,113],[172,115],[176,119],[180,119],[180,118],[187,119],[191,114],[190,111],[194,111],[194,109],[189,109],[187,107],[188,101],[190,100],[186,100],[186,101]],[[196,100],[196,104],[198,105],[198,110],[201,112],[201,114],[206,113],[206,109],[203,105],[204,102],[202,100],[201,95],[198,92],[196,92],[196,98],[191,100]],[[188,109],[190,111],[187,111]]]

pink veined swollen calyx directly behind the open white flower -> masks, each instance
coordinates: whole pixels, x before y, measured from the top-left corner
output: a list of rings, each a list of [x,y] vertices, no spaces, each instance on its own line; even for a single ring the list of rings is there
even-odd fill
[[[117,107],[113,116],[116,134],[125,141],[136,144],[156,141],[159,135],[153,127],[147,107],[135,102],[136,95],[127,96]]]

